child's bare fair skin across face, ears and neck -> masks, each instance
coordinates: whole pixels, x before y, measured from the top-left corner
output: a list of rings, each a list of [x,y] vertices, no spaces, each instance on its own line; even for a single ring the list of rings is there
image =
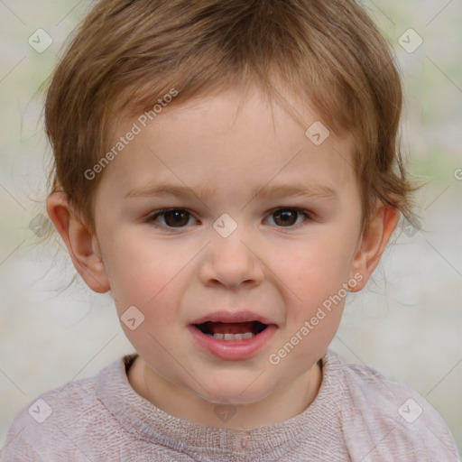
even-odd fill
[[[365,286],[398,214],[377,202],[361,236],[352,140],[331,133],[316,146],[305,130],[319,117],[297,98],[285,95],[304,127],[280,106],[269,106],[258,88],[237,111],[241,95],[229,88],[172,106],[143,128],[102,173],[94,235],[65,193],[51,194],[48,211],[88,286],[111,291],[119,317],[130,306],[143,313],[134,330],[121,322],[139,354],[128,374],[134,390],[181,419],[251,429],[288,420],[316,398],[319,359],[335,336],[345,299],[277,365],[268,358],[355,275],[350,291]],[[135,121],[114,124],[112,141]],[[130,197],[161,181],[186,185],[190,193]],[[335,197],[253,194],[295,183],[334,189]],[[199,199],[206,187],[208,196]],[[163,208],[189,215],[175,227],[174,217],[152,218]],[[280,208],[289,212],[285,222],[274,213]],[[237,224],[227,237],[212,226],[223,213]],[[223,360],[199,347],[188,330],[192,320],[216,310],[251,310],[277,328],[249,359]],[[217,403],[232,404],[235,416],[218,419]]]

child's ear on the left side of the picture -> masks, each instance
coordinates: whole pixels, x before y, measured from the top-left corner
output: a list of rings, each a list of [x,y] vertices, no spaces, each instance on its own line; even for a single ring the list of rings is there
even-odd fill
[[[47,200],[48,215],[68,247],[72,263],[82,279],[93,291],[104,293],[110,290],[106,269],[101,258],[97,236],[74,212],[65,192],[52,192]]]

